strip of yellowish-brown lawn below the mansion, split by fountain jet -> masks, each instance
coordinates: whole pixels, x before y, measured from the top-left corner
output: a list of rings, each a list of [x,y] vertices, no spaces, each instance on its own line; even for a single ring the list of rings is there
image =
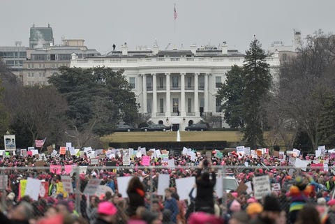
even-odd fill
[[[227,141],[239,142],[243,135],[238,131],[181,131],[181,142]],[[103,143],[108,142],[174,142],[177,132],[119,132],[102,137]]]

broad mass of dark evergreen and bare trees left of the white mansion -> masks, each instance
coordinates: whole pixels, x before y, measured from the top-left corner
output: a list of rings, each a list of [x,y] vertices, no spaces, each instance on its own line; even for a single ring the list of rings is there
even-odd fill
[[[100,137],[120,121],[139,121],[135,95],[123,70],[59,68],[48,86],[23,86],[1,61],[0,133],[16,136],[20,147],[46,144],[102,147]],[[3,141],[0,141],[0,146]]]

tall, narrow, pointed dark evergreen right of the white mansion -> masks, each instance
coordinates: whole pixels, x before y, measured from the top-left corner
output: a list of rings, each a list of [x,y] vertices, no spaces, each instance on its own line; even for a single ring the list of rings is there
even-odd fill
[[[269,64],[265,61],[267,55],[262,50],[260,42],[255,39],[250,48],[246,50],[244,60],[244,140],[246,144],[257,148],[264,144],[262,121],[264,113],[262,104],[267,100],[271,87],[271,74]]]

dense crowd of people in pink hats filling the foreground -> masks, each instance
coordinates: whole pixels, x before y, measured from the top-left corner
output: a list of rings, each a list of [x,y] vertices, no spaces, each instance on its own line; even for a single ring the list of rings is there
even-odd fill
[[[194,224],[194,223],[335,223],[335,200],[333,199],[335,176],[332,172],[334,158],[304,157],[302,160],[318,160],[327,163],[327,169],[308,165],[306,169],[293,167],[290,156],[241,156],[237,153],[217,156],[198,153],[197,157],[172,156],[174,167],[168,167],[163,158],[150,160],[143,166],[142,158],[132,156],[131,165],[124,166],[122,155],[112,158],[99,156],[97,165],[91,165],[92,158],[82,156],[46,156],[44,167],[36,170],[37,156],[9,156],[0,160],[7,167],[6,191],[2,192],[0,223],[147,223],[147,224]],[[106,165],[112,164],[113,167]],[[89,166],[85,173],[71,173],[75,193],[57,193],[61,174],[49,169],[52,165]],[[290,166],[291,165],[291,166]],[[91,167],[96,166],[96,167]],[[290,166],[290,167],[289,167]],[[25,167],[24,170],[18,167]],[[43,169],[45,168],[45,169]],[[218,169],[234,177],[239,188],[224,192],[218,197],[216,182]],[[165,195],[158,195],[158,177],[170,175],[170,185]],[[267,175],[269,184],[280,188],[261,199],[251,191],[240,188],[253,177]],[[132,177],[121,195],[117,177]],[[28,177],[43,179],[49,183],[47,197],[32,200],[20,197],[20,180]],[[188,200],[180,200],[176,179],[195,177],[195,186],[189,189]],[[84,188],[92,178],[101,179],[101,185],[110,188],[102,195],[84,195]],[[78,185],[77,179],[80,179]],[[196,190],[195,190],[196,189]],[[77,194],[80,191],[80,194]],[[196,193],[194,194],[194,191]],[[76,198],[80,195],[80,198]],[[75,201],[80,201],[80,207]]]

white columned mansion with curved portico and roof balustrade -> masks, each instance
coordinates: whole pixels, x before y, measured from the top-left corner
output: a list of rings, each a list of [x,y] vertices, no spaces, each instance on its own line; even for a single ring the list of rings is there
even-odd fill
[[[113,51],[101,57],[77,59],[73,55],[70,67],[91,68],[105,66],[124,69],[131,84],[140,112],[147,114],[155,124],[165,124],[184,130],[206,116],[223,116],[221,101],[216,99],[225,73],[231,66],[243,66],[244,54],[228,50],[223,43],[216,47],[195,45],[191,50]],[[267,58],[274,80],[277,80],[278,54]],[[224,126],[221,124],[221,126]]]

